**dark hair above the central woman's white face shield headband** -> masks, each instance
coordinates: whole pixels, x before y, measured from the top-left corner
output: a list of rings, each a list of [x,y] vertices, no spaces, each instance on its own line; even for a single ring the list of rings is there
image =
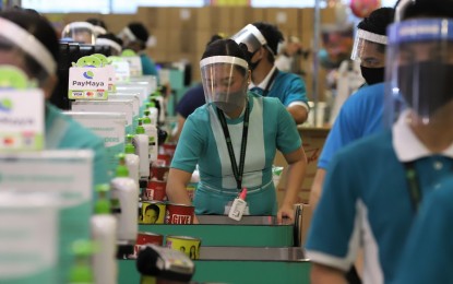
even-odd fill
[[[201,59],[213,56],[233,56],[246,60],[247,63],[250,62],[247,46],[245,44],[238,45],[235,40],[230,38],[217,39],[214,43],[207,45]]]

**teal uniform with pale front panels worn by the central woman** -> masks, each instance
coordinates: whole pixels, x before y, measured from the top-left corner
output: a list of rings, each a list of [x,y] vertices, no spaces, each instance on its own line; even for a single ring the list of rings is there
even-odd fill
[[[248,93],[250,121],[242,187],[248,189],[251,215],[277,212],[272,164],[276,150],[287,154],[298,150],[301,139],[296,123],[277,98]],[[243,114],[226,118],[236,161],[242,140]],[[225,135],[214,105],[204,105],[190,115],[182,129],[171,162],[172,168],[193,173],[199,165],[200,182],[194,197],[196,214],[224,214],[238,196]]]

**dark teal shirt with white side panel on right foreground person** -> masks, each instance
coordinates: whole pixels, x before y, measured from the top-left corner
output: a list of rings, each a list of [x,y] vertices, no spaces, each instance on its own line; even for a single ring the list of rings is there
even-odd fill
[[[306,246],[313,262],[347,271],[363,242],[371,268],[363,283],[394,279],[415,215],[392,138],[384,131],[361,139],[333,158]],[[436,167],[439,163],[443,167]],[[452,158],[440,155],[415,161],[424,197],[451,175],[452,166]]]

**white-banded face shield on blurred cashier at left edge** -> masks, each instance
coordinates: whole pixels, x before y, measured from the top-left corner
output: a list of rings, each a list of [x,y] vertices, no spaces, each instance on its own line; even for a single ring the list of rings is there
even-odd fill
[[[53,75],[57,63],[48,49],[32,34],[0,17],[0,64],[13,66],[24,71],[39,85]]]

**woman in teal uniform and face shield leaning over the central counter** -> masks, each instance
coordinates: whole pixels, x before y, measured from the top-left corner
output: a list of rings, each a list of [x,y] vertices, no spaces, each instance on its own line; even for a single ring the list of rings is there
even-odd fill
[[[242,188],[246,213],[294,217],[293,205],[307,159],[296,123],[273,97],[248,92],[247,46],[219,39],[200,61],[206,104],[184,123],[167,181],[170,202],[190,204],[186,186],[199,165],[195,214],[228,214]],[[288,163],[287,187],[278,209],[272,180],[276,150]]]

